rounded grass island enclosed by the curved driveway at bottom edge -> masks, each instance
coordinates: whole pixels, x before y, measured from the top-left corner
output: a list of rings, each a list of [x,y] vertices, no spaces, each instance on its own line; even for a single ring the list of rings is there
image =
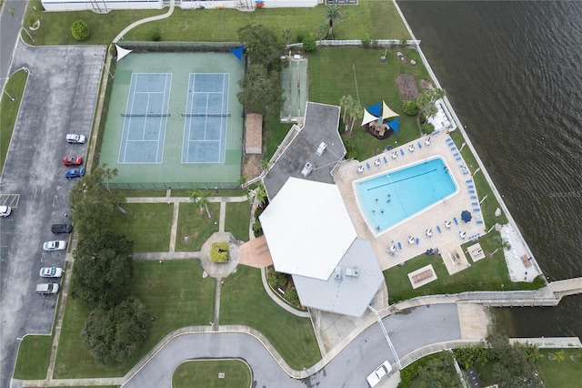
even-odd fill
[[[218,373],[225,373],[219,378]],[[176,368],[172,388],[244,388],[251,386],[251,370],[241,360],[196,360]]]

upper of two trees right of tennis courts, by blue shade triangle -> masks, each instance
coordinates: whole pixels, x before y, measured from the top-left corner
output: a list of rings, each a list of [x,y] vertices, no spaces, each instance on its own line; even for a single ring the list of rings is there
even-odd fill
[[[247,25],[238,29],[238,38],[245,44],[246,55],[251,64],[265,66],[267,73],[281,71],[281,56],[285,47],[278,42],[273,31],[262,25]]]

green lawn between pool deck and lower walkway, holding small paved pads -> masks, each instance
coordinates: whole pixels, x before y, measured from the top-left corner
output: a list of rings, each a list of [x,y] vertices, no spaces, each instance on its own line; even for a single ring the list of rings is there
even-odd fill
[[[491,232],[487,236],[479,239],[481,247],[483,248],[487,258],[479,260],[476,263],[471,263],[471,267],[467,270],[457,272],[450,276],[447,272],[447,267],[440,255],[427,256],[420,255],[415,259],[406,261],[403,266],[392,267],[384,271],[384,278],[388,287],[389,302],[396,303],[398,301],[406,301],[407,299],[415,298],[417,296],[437,295],[447,293],[457,293],[463,291],[501,291],[501,290],[537,290],[545,285],[541,278],[536,279],[531,283],[528,282],[511,282],[507,272],[506,260],[503,256],[503,251],[498,250],[497,253],[489,258],[489,254],[500,247],[499,233]],[[470,242],[467,245],[472,245],[475,242]],[[463,245],[463,250],[467,246]],[[437,273],[437,281],[432,281],[425,286],[416,290],[412,289],[412,285],[408,280],[407,274],[415,271],[425,265],[432,264]]]

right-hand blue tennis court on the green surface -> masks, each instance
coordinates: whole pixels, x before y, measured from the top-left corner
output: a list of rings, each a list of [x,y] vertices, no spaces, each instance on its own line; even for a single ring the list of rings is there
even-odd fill
[[[191,73],[184,123],[182,163],[224,163],[228,73]]]

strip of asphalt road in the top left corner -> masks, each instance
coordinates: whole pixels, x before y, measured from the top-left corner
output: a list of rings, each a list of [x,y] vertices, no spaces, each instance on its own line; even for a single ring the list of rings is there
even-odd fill
[[[10,65],[16,41],[20,36],[20,23],[25,15],[25,8],[28,2],[25,0],[5,0],[0,14],[0,79],[9,76]],[[15,15],[10,15],[9,9],[14,9]],[[0,88],[5,85],[6,80],[0,81]]]

